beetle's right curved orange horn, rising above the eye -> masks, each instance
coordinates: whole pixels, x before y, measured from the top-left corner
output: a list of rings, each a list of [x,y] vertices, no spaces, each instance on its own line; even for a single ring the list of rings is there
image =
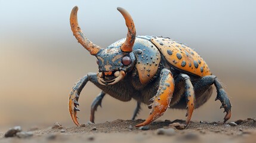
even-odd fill
[[[135,41],[135,36],[136,36],[136,29],[134,26],[134,22],[131,18],[131,15],[129,15],[129,13],[124,8],[118,7],[118,11],[124,16],[125,24],[127,24],[127,28],[128,28],[127,39],[121,46],[121,50],[123,52],[131,52],[132,46]]]

